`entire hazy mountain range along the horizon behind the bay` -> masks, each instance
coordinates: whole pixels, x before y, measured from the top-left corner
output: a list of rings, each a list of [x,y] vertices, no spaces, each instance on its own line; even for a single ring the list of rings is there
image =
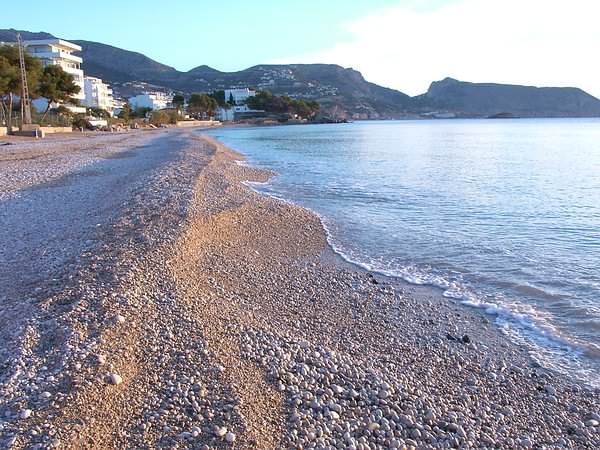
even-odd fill
[[[16,30],[0,30],[0,41],[14,41]],[[24,39],[48,39],[49,33],[21,31]],[[69,39],[67,39],[69,40]],[[86,74],[110,83],[124,98],[145,90],[206,92],[256,87],[278,95],[316,100],[336,118],[457,117],[600,117],[600,100],[577,88],[538,88],[468,83],[446,78],[416,97],[366,81],[360,72],[334,64],[257,65],[239,72],[198,66],[188,72],[147,56],[99,42],[71,40],[82,47]]]

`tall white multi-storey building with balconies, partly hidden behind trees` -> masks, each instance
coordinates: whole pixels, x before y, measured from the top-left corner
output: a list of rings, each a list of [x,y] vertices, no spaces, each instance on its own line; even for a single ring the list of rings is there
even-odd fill
[[[83,78],[83,70],[81,70],[81,63],[83,59],[79,56],[75,56],[73,52],[80,52],[81,47],[72,42],[63,41],[62,39],[40,39],[35,41],[24,41],[23,46],[31,56],[35,56],[42,60],[44,67],[49,65],[57,65],[62,69],[73,75],[73,81],[79,86],[79,93],[75,94],[73,98],[83,102],[85,100],[85,86]],[[47,101],[45,99],[37,99],[33,101],[34,106],[38,110],[46,109]],[[51,105],[56,107],[58,105]],[[85,107],[65,105],[74,113],[85,113]]]

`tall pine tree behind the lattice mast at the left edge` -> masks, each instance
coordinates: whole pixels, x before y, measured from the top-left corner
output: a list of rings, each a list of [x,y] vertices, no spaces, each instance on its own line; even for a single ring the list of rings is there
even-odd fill
[[[42,63],[39,59],[25,53],[25,69],[29,92],[35,97],[35,86],[42,71]],[[12,110],[14,96],[23,93],[21,83],[21,68],[19,62],[19,49],[14,45],[0,46],[0,104],[5,112],[5,123],[12,123]]]

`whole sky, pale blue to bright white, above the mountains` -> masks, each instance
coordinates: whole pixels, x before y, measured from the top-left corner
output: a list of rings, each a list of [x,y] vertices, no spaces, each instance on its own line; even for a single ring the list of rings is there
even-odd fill
[[[178,70],[332,63],[409,95],[453,77],[600,98],[600,0],[53,0],[37,9],[14,2],[0,28],[103,42]]]

